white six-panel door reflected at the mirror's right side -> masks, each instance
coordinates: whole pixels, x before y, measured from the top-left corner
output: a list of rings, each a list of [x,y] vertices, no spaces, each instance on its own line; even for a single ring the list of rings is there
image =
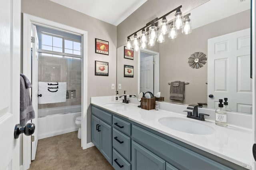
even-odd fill
[[[208,39],[208,107],[228,98],[232,111],[252,113],[250,29]]]

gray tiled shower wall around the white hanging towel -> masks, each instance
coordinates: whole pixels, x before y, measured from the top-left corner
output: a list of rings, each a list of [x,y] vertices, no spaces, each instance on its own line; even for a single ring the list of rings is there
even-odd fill
[[[39,56],[38,66],[38,81],[67,82],[67,90],[76,91],[75,99],[67,99],[66,102],[62,103],[39,104],[38,109],[81,104],[81,84],[72,84],[81,83],[81,60]]]

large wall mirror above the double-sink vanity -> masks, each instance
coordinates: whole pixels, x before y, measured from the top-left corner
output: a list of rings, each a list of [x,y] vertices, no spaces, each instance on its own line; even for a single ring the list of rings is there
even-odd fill
[[[250,1],[210,0],[187,13],[191,14],[191,34],[179,34],[174,40],[166,37],[164,43],[142,50],[156,58],[153,73],[148,73],[153,76],[150,81],[153,81],[154,90],[150,91],[154,95],[160,91],[164,102],[208,103],[208,108],[218,107],[218,99],[227,97],[232,111],[252,113]],[[239,32],[241,30],[242,33]],[[232,50],[235,53],[230,53]],[[199,69],[190,67],[188,63],[188,58],[195,52],[202,52],[207,57],[206,63]],[[155,57],[157,53],[158,61]],[[142,55],[142,52],[134,51],[133,60],[125,59],[124,45],[118,47],[116,77],[117,86],[122,85],[122,89],[118,89],[119,94],[124,90],[127,94],[138,95],[140,92],[143,83],[140,79],[143,77],[140,69]],[[124,77],[124,65],[133,66],[132,78]],[[184,101],[170,100],[168,83],[172,81],[189,82],[185,85]],[[209,97],[211,94],[213,97]]]

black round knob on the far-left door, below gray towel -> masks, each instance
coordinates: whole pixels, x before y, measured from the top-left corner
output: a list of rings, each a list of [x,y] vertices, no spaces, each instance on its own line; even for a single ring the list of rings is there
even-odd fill
[[[26,136],[30,136],[35,132],[35,124],[27,123],[25,127],[21,127],[20,124],[16,124],[14,128],[14,138],[18,139],[19,135],[24,133]]]

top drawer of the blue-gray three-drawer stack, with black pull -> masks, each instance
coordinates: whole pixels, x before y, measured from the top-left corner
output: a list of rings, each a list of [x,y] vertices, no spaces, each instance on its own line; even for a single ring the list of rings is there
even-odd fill
[[[127,134],[127,135],[131,135],[131,124],[119,119],[118,117],[113,116],[113,124],[112,127],[118,129],[119,131]]]

